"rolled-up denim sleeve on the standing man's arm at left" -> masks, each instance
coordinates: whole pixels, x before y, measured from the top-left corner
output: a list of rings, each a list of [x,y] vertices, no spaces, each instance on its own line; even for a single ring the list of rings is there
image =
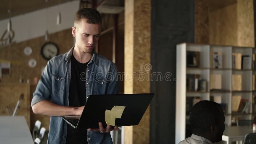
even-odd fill
[[[52,65],[54,58],[47,62],[44,68],[41,79],[39,80],[36,91],[33,93],[33,98],[31,101],[31,107],[42,100],[51,100],[52,94]]]

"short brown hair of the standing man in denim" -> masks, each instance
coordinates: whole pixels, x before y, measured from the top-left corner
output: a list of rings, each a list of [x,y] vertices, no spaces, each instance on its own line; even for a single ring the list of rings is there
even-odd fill
[[[101,24],[100,13],[91,8],[83,8],[76,12],[74,24],[80,22],[81,19],[87,19],[87,23]]]

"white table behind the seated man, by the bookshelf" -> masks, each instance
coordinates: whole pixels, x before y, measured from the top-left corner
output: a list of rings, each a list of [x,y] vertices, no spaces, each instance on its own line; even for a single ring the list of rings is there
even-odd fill
[[[222,135],[222,140],[227,144],[231,144],[232,141],[242,143],[247,133],[252,133],[252,126],[228,126]]]

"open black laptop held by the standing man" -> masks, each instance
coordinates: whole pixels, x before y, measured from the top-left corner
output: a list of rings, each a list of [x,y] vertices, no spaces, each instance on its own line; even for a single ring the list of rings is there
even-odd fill
[[[153,93],[91,95],[81,116],[61,116],[73,128],[88,129],[109,125],[138,125]]]

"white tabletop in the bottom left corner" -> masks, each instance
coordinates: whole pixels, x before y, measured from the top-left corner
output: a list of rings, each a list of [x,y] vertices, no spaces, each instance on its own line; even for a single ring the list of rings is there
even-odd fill
[[[24,116],[0,116],[0,144],[34,144]]]

